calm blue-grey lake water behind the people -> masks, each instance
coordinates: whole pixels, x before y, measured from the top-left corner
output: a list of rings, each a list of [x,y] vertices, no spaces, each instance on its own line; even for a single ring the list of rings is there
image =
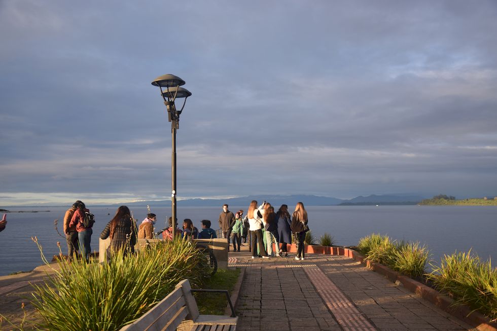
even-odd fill
[[[92,250],[98,250],[98,237],[114,216],[117,207],[94,207],[96,223],[93,227]],[[42,212],[42,210],[50,210]],[[40,251],[31,236],[37,236],[49,260],[58,253],[67,252],[65,238],[54,229],[54,219],[62,233],[62,220],[67,208],[12,208],[38,210],[31,213],[8,213],[7,228],[0,233],[0,275],[32,270],[42,264]],[[247,206],[230,207],[237,211]],[[277,209],[277,207],[276,207]],[[154,208],[157,214],[157,231],[165,227],[170,208]],[[146,207],[132,210],[138,224],[146,216]],[[371,233],[388,235],[397,240],[420,241],[429,247],[435,262],[443,254],[468,251],[473,248],[480,258],[497,256],[497,207],[492,206],[309,206],[309,227],[316,238],[330,233],[336,245],[356,245],[360,238]],[[200,228],[201,219],[210,219],[212,228],[218,229],[219,207],[185,207],[177,210],[178,219],[191,218]],[[110,214],[110,215],[109,215]]]

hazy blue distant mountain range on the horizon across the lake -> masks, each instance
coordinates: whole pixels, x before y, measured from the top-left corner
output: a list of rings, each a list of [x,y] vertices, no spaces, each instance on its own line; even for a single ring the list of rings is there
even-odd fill
[[[266,195],[266,196],[247,196],[229,199],[185,199],[177,201],[181,207],[204,207],[204,206],[222,206],[227,203],[231,206],[245,206],[252,200],[257,200],[261,204],[264,200],[270,202],[273,206],[287,204],[294,206],[301,201],[306,206],[336,206],[336,205],[414,205],[423,200],[421,196],[407,195],[370,195],[367,197],[359,196],[353,199],[344,200],[332,197],[322,197],[315,195]],[[168,207],[171,200],[160,201],[138,201],[127,203],[128,206],[146,206],[151,207]]]

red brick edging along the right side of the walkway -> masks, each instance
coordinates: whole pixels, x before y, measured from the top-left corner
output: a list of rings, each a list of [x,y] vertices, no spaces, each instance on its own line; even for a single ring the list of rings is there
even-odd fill
[[[295,244],[289,245],[290,252],[297,252],[297,247]],[[342,255],[347,256],[355,261],[361,262],[369,269],[385,276],[388,280],[392,282],[400,282],[405,288],[418,294],[424,300],[427,300],[439,307],[440,309],[448,312],[452,316],[455,316],[466,323],[476,327],[481,331],[497,331],[497,323],[491,323],[490,319],[485,317],[479,312],[471,312],[468,306],[452,306],[454,300],[442,295],[439,291],[424,285],[414,279],[407,276],[401,275],[397,271],[394,271],[388,267],[385,267],[379,263],[371,262],[366,260],[363,255],[355,250],[344,248],[344,247],[328,247],[320,245],[305,245],[306,253],[318,253],[318,254],[328,254],[328,255]]]

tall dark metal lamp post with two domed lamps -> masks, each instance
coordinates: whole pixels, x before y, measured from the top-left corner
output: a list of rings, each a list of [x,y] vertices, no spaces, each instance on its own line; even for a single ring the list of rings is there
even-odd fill
[[[164,99],[167,108],[169,122],[171,122],[172,150],[171,150],[171,209],[172,209],[172,240],[176,237],[176,130],[180,128],[180,114],[185,107],[186,99],[192,95],[190,91],[180,86],[185,85],[185,81],[174,75],[163,75],[157,77],[152,85],[160,88],[160,94]],[[164,90],[162,89],[164,88]],[[176,110],[174,100],[185,98],[180,111]]]

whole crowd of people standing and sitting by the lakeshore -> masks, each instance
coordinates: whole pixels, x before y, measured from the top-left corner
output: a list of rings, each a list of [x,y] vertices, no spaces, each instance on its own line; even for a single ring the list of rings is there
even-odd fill
[[[247,241],[250,234],[249,249],[252,251],[252,259],[256,257],[269,258],[270,256],[288,256],[288,244],[292,243],[292,233],[297,243],[297,256],[295,259],[304,260],[304,238],[307,227],[307,211],[302,202],[297,203],[295,211],[290,215],[288,206],[283,204],[274,212],[274,207],[264,201],[257,206],[253,200],[248,207],[247,214],[243,216],[243,210],[238,210],[235,214],[228,210],[228,205],[223,205],[223,212],[219,216],[219,225],[223,238],[227,238],[228,247],[230,237],[233,238],[234,251],[240,251],[241,240]],[[91,215],[91,217],[88,217]],[[91,235],[94,224],[93,215],[85,204],[78,200],[65,213],[64,234],[67,241],[67,257],[71,260],[78,250],[88,261],[91,252]],[[90,221],[88,220],[90,219]],[[105,226],[100,234],[101,239],[111,238],[110,252],[120,249],[125,250],[125,254],[134,252],[136,239],[152,239],[155,236],[154,225],[157,216],[154,213],[147,214],[147,217],[136,229],[135,222],[131,217],[128,207],[120,206],[114,217]],[[172,240],[173,226],[172,217],[168,219],[169,226],[159,232],[162,238]],[[191,219],[185,218],[182,229],[177,228],[177,237],[183,239],[212,239],[217,238],[216,231],[210,228],[211,222],[208,219],[201,221],[201,231],[194,225]],[[265,238],[263,238],[263,236]],[[266,239],[266,244],[264,243]],[[275,250],[273,251],[273,243]]]

